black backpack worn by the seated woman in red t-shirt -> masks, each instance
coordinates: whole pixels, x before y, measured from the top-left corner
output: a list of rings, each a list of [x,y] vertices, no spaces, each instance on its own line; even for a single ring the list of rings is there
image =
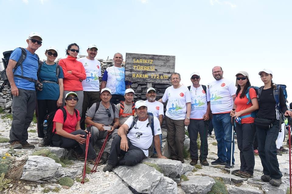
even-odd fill
[[[67,119],[67,112],[66,112],[66,110],[65,110],[64,107],[61,107],[60,109],[61,109],[62,112],[63,112],[64,122],[65,122],[66,119]],[[56,129],[54,129],[54,131],[53,131],[53,125],[54,125],[53,120],[54,120],[54,117],[55,117],[56,112],[57,112],[57,111],[50,112],[49,114],[47,114],[47,115],[44,117],[43,122],[44,122],[45,120],[47,120],[47,125],[48,125],[46,130],[44,130],[43,122],[42,122],[42,124],[41,124],[41,126],[40,126],[40,130],[43,131],[43,133],[44,133],[44,135],[45,135],[44,138],[43,138],[43,141],[44,141],[45,145],[51,145],[53,135],[54,135],[55,132],[56,132]],[[76,118],[78,118],[78,112],[77,112],[77,110],[74,109],[74,112],[75,112]],[[57,134],[55,134],[55,135],[57,135]]]

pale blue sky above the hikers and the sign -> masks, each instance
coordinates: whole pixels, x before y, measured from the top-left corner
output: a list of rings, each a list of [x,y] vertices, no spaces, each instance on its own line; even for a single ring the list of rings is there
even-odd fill
[[[50,45],[64,58],[73,42],[84,55],[90,43],[98,45],[103,59],[116,52],[175,55],[185,85],[195,71],[202,84],[213,81],[211,70],[220,65],[224,77],[235,81],[244,70],[260,86],[258,72],[268,68],[292,101],[290,0],[0,0],[0,7],[1,53],[26,47],[36,31],[43,36],[41,59]]]

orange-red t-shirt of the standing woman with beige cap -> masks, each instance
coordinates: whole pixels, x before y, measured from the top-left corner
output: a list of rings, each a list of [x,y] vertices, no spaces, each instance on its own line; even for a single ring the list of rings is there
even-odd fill
[[[250,102],[249,104],[246,104],[249,100],[246,98],[246,95],[244,96],[244,98],[240,98],[239,96],[241,95],[241,93],[238,93],[238,95],[236,96],[235,98],[235,105],[236,105],[236,112],[239,112],[239,111],[242,111],[244,109],[248,109],[249,107],[252,106],[252,102]],[[256,95],[256,92],[253,88],[250,88],[249,89],[249,96],[250,96],[250,99],[253,99],[253,98],[257,98],[257,95]],[[245,113],[245,114],[242,114],[241,116],[244,116],[244,115],[249,115],[251,114],[250,112],[249,113]],[[244,118],[244,119],[241,119],[241,123],[242,124],[245,124],[245,123],[253,123],[255,120],[255,118],[253,117],[247,117],[247,118]]]

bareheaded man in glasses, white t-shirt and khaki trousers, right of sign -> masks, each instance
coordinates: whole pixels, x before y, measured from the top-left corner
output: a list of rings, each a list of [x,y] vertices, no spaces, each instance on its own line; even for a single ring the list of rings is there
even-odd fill
[[[183,142],[185,140],[185,125],[189,125],[191,113],[191,97],[189,89],[180,85],[179,73],[172,73],[170,76],[172,86],[168,87],[162,99],[158,102],[167,102],[165,112],[165,125],[167,128],[167,141],[170,148],[170,159],[183,159]]]

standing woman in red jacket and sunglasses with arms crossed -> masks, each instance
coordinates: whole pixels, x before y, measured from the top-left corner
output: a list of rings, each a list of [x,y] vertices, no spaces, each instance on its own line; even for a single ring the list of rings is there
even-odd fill
[[[63,106],[65,104],[65,94],[72,91],[78,95],[79,99],[75,109],[82,112],[83,87],[81,82],[86,79],[86,73],[82,63],[76,60],[78,53],[79,46],[76,43],[68,45],[66,50],[66,55],[68,55],[68,57],[66,59],[61,59],[59,65],[62,67],[64,73]]]

